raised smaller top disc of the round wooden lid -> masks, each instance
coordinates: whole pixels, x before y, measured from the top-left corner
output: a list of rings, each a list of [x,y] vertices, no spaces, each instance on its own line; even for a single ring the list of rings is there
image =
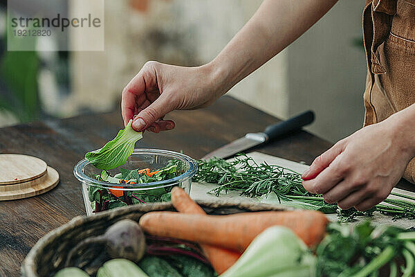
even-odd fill
[[[0,186],[18,184],[46,174],[42,159],[21,154],[0,154]]]

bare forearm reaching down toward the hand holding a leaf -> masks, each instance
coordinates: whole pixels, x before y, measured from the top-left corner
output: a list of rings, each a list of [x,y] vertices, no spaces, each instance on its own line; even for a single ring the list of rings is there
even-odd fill
[[[265,0],[208,66],[222,93],[313,26],[337,0]]]

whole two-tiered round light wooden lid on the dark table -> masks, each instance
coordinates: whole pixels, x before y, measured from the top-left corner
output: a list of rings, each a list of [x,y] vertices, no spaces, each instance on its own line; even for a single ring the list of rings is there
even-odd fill
[[[42,159],[0,154],[0,201],[32,197],[55,188],[57,171]]]

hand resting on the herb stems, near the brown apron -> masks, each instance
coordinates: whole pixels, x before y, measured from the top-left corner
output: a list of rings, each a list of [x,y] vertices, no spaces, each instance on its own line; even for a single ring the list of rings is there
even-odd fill
[[[399,114],[360,129],[317,157],[302,175],[304,188],[342,209],[365,211],[386,199],[414,157],[415,130]]]

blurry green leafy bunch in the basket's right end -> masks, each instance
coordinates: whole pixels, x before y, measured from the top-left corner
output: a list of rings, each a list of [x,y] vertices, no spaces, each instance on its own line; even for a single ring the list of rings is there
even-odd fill
[[[414,276],[415,232],[375,228],[369,222],[354,227],[333,223],[327,232],[316,249],[317,276],[378,276],[380,271],[389,271],[391,277]]]

